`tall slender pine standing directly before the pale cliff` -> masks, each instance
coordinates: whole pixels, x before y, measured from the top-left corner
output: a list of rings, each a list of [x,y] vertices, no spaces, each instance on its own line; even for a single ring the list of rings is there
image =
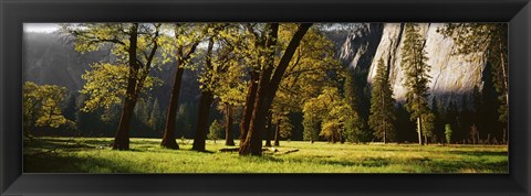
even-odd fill
[[[418,143],[423,142],[423,121],[433,120],[424,117],[430,113],[428,108],[428,83],[430,66],[426,63],[426,52],[424,51],[425,40],[420,37],[418,24],[407,23],[405,26],[406,40],[403,45],[403,56],[400,66],[404,68],[406,92],[406,109],[412,112],[412,120],[417,121]]]

